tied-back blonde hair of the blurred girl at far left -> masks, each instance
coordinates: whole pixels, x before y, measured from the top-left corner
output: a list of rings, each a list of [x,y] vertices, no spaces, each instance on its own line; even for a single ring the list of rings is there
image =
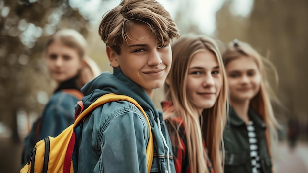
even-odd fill
[[[78,56],[83,62],[82,69],[80,69],[78,74],[76,74],[78,75],[77,84],[79,88],[101,73],[98,65],[87,56],[87,41],[79,32],[73,29],[62,29],[57,31],[47,41],[45,45],[45,53],[47,52],[48,47],[55,41],[60,41],[63,45],[77,50]]]

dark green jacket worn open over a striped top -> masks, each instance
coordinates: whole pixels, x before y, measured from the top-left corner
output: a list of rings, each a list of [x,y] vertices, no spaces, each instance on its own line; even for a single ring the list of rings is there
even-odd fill
[[[266,125],[253,110],[249,109],[248,115],[254,124],[258,140],[261,173],[272,173],[272,162],[265,138]],[[252,173],[247,126],[231,106],[223,132],[223,140],[225,146],[224,173]]]

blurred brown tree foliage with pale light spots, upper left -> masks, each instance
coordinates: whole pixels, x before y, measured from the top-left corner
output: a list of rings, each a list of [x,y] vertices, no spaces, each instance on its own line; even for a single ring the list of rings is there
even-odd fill
[[[15,141],[17,114],[38,114],[53,89],[41,58],[45,41],[61,28],[86,35],[99,7],[82,10],[88,2],[0,0],[0,122],[11,127]]]

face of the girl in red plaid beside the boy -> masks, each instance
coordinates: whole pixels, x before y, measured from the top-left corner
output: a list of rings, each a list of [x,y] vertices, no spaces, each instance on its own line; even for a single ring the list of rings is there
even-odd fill
[[[220,93],[222,76],[216,56],[206,50],[196,53],[187,76],[187,98],[201,114],[213,107]]]

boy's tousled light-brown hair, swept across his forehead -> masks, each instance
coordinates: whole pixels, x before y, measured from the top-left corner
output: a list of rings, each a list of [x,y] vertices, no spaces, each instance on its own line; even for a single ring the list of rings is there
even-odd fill
[[[180,37],[169,12],[156,0],[123,0],[103,17],[98,32],[120,55],[123,41],[133,39],[130,28],[134,23],[147,25],[161,45]]]

